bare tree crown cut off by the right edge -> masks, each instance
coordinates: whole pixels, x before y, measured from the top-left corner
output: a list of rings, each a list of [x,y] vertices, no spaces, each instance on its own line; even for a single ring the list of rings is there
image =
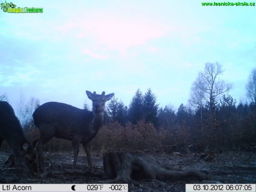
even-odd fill
[[[249,80],[246,85],[247,97],[256,104],[256,68],[249,75]]]

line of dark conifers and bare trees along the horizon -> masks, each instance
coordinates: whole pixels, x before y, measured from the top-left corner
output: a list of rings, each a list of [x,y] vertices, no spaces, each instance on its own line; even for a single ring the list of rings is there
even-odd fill
[[[149,132],[152,133],[150,137],[159,134],[163,138],[164,135],[168,145],[178,143],[221,150],[255,144],[256,68],[245,85],[249,101],[245,103],[238,104],[229,94],[233,85],[221,80],[222,74],[223,67],[219,63],[205,63],[204,69],[198,72],[191,84],[188,105],[181,104],[177,111],[171,106],[160,107],[151,88],[145,93],[138,89],[129,106],[113,97],[106,108],[106,127],[119,127],[119,131],[141,130],[143,127],[142,135]],[[8,101],[8,96],[3,94],[0,100]],[[38,106],[39,100],[31,98],[24,104],[21,96],[17,116],[25,130],[33,129],[32,113]],[[84,109],[89,109],[86,103]]]

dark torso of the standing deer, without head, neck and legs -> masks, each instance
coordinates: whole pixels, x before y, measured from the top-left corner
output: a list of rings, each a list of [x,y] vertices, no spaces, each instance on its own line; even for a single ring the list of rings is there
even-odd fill
[[[41,105],[34,112],[33,118],[45,142],[55,136],[71,141],[79,139],[80,143],[86,143],[97,134],[97,130],[93,130],[92,126],[92,111],[60,102]]]

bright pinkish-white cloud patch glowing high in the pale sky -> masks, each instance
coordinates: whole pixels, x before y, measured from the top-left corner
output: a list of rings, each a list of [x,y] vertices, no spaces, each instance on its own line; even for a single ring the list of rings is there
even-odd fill
[[[57,30],[64,33],[75,32],[78,39],[92,38],[97,45],[124,51],[130,47],[144,45],[154,38],[165,36],[172,29],[142,15],[117,17],[108,12],[95,11],[75,21],[66,22],[57,27]],[[99,55],[94,53],[93,56]]]

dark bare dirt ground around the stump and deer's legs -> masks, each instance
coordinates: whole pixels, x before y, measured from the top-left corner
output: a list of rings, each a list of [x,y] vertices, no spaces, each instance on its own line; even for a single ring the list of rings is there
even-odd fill
[[[215,159],[205,161],[200,154],[153,154],[161,164],[169,164],[174,169],[199,170],[208,176],[208,179],[199,181],[195,179],[184,180],[131,180],[129,191],[185,191],[187,183],[212,183],[218,181],[224,184],[255,184],[256,183],[256,152],[230,151],[215,154]],[[73,154],[45,154],[45,163],[48,174],[45,178],[40,176],[25,176],[21,169],[9,167],[5,164],[9,154],[0,151],[0,183],[8,184],[92,184],[114,183],[112,180],[102,179],[102,155],[93,155],[93,174],[70,173]],[[80,154],[77,160],[77,170],[85,171],[87,168],[86,156]],[[85,172],[86,173],[86,172]]]

